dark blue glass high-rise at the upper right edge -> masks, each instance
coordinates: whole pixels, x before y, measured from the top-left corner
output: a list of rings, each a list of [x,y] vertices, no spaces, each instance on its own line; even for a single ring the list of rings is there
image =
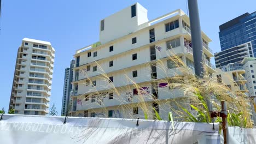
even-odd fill
[[[245,13],[219,26],[219,40],[222,51],[252,41],[256,56],[256,11]]]

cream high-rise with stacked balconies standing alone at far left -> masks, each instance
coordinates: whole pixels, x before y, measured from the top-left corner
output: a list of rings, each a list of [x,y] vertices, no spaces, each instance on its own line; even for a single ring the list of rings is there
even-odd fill
[[[9,110],[46,115],[53,79],[55,50],[47,41],[24,38],[18,49]]]

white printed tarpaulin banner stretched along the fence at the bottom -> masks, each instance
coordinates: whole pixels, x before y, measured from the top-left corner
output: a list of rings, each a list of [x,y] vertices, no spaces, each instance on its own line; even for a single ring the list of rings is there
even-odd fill
[[[2,115],[2,114],[1,114]],[[4,114],[0,143],[222,143],[218,123]],[[136,125],[138,123],[138,125]],[[214,129],[213,129],[214,126]],[[256,143],[255,129],[229,127],[229,142]]]

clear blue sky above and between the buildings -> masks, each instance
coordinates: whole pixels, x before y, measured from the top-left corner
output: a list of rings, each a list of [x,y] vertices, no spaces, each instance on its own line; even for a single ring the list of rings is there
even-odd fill
[[[186,1],[2,0],[0,109],[8,110],[17,50],[23,38],[50,41],[56,50],[50,104],[56,104],[60,115],[64,70],[75,50],[98,41],[101,19],[135,2],[148,9],[149,20],[179,8],[187,13]],[[255,0],[198,1],[201,29],[212,39],[214,52],[220,51],[218,26],[256,10]]]

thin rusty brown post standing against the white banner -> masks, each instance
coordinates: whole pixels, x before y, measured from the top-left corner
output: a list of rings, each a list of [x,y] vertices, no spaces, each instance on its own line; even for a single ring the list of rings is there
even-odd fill
[[[223,129],[223,137],[224,137],[224,144],[228,143],[228,111],[226,110],[226,101],[222,102],[222,111],[220,113],[223,113],[222,116],[222,129]]]

